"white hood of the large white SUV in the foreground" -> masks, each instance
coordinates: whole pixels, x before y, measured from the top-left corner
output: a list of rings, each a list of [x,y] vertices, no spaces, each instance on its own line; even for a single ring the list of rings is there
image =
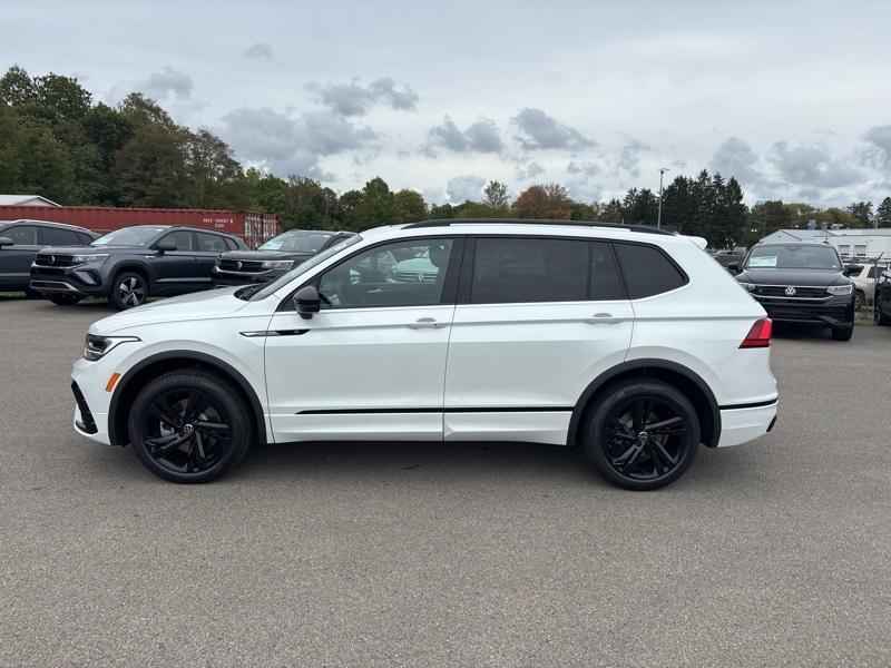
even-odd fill
[[[235,292],[238,289],[241,287],[224,287],[150,302],[95,322],[90,326],[90,333],[111,334],[139,325],[195,321],[228,315],[247,305],[247,302],[235,296]]]

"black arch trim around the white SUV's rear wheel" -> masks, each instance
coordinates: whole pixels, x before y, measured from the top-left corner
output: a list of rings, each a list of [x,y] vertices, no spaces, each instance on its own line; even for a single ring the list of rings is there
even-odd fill
[[[702,442],[708,448],[717,446],[721,439],[721,410],[708,384],[696,372],[683,364],[656,358],[623,362],[594,379],[572,409],[567,445],[575,445],[578,442],[579,430],[585,424],[588,411],[596,405],[597,399],[604,390],[614,382],[640,376],[659,379],[683,392],[691,400],[699,416]]]

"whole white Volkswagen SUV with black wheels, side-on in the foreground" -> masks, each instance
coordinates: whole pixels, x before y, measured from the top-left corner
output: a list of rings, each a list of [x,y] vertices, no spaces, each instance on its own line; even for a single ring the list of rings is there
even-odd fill
[[[75,428],[175,482],[260,442],[517,441],[656,489],[776,416],[771,321],[699,246],[596,223],[371,229],[265,286],[92,324]],[[415,257],[433,271],[393,281]]]

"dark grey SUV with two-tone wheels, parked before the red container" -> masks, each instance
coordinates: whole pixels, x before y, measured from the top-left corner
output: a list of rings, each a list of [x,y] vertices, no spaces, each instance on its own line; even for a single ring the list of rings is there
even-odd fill
[[[217,257],[238,248],[246,248],[242,239],[212,229],[124,227],[81,248],[42,248],[31,266],[31,289],[55,304],[107,297],[123,311],[147,297],[213,287]]]

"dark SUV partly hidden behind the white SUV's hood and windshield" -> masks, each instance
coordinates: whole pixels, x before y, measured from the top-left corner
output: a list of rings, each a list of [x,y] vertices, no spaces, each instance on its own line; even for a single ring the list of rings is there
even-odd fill
[[[352,232],[292,229],[256,250],[224,253],[217,261],[214,278],[217,285],[266,283],[351,236]]]

